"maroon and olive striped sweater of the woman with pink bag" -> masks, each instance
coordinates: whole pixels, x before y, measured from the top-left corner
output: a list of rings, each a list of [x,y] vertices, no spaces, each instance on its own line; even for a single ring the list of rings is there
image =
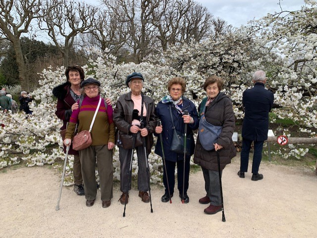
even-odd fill
[[[98,106],[99,98],[100,95],[93,98],[87,95],[84,97],[81,107],[73,110],[71,114],[65,138],[72,139],[77,123],[78,132],[89,130]],[[79,101],[77,103],[79,104]],[[106,107],[105,100],[102,100],[91,131],[92,145],[102,145],[108,142],[114,143],[115,127],[112,114],[113,109],[111,105],[107,105]]]

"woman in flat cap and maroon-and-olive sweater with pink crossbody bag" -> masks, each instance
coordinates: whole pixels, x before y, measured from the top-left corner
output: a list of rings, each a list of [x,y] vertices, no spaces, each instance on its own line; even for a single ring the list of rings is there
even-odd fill
[[[76,124],[78,124],[78,133],[89,130],[100,101],[101,104],[91,130],[92,143],[87,148],[79,150],[79,158],[85,187],[86,206],[93,206],[97,195],[95,175],[97,160],[102,206],[106,208],[110,206],[113,196],[112,148],[115,145],[115,127],[112,120],[113,109],[101,97],[100,85],[100,82],[93,78],[81,83],[84,99],[81,107],[75,109],[70,116],[63,143],[66,146],[71,144]]]

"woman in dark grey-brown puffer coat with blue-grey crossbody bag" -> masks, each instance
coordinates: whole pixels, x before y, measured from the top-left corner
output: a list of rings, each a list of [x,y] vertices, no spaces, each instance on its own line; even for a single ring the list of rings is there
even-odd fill
[[[214,143],[214,149],[204,149],[199,137],[197,137],[195,148],[194,163],[202,167],[207,192],[207,195],[199,199],[199,202],[202,204],[210,203],[210,206],[204,210],[207,214],[215,214],[222,208],[216,150],[219,150],[221,174],[226,164],[229,164],[236,155],[236,149],[232,142],[235,128],[232,102],[227,95],[220,92],[222,86],[222,79],[215,75],[209,77],[204,84],[204,90],[208,97],[205,97],[198,107],[199,116],[205,113],[209,123],[214,126],[222,126],[221,133]]]

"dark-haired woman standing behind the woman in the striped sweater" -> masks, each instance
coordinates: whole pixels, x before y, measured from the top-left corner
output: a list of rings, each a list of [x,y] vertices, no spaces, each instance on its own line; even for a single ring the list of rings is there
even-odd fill
[[[77,101],[83,99],[81,94],[81,82],[85,79],[85,73],[82,67],[78,65],[68,66],[65,70],[66,82],[53,88],[53,95],[57,97],[56,116],[63,121],[60,128],[65,132],[67,123],[69,122],[72,112],[78,109]],[[64,137],[64,133],[62,133]],[[64,138],[62,138],[64,140]],[[64,145],[64,152],[66,146]],[[77,195],[85,195],[83,187],[83,178],[81,175],[81,164],[79,159],[79,152],[74,150],[70,145],[68,154],[74,155],[73,176],[74,176],[74,192]]]

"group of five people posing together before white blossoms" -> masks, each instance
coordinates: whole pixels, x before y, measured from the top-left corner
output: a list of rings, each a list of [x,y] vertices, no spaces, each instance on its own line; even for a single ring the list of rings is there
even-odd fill
[[[119,201],[122,204],[128,203],[129,190],[131,190],[131,155],[136,150],[139,197],[143,202],[150,202],[147,156],[151,152],[154,134],[158,137],[155,153],[163,157],[165,191],[161,201],[169,201],[174,194],[177,165],[179,197],[184,203],[189,202],[187,190],[190,157],[194,154],[194,163],[202,167],[205,179],[206,196],[199,199],[199,202],[210,204],[204,210],[207,214],[221,211],[216,153],[220,155],[220,175],[225,165],[236,155],[232,142],[235,117],[230,98],[220,92],[223,86],[221,78],[214,75],[205,81],[204,90],[207,96],[200,103],[197,112],[195,104],[184,96],[186,82],[183,78],[175,77],[169,80],[168,94],[155,105],[151,97],[142,94],[144,77],[141,73],[134,72],[126,78],[130,92],[117,99],[113,110],[111,101],[103,99],[100,95],[101,83],[93,78],[84,80],[81,67],[68,67],[65,74],[66,83],[57,86],[53,91],[58,98],[56,115],[64,122],[61,129],[67,127],[63,140],[65,146],[71,146],[76,131],[89,130],[95,111],[99,108],[91,130],[92,144],[79,151],[70,149],[70,153],[75,155],[74,190],[78,195],[85,195],[87,206],[94,205],[96,199],[96,161],[100,176],[102,206],[106,208],[111,204],[112,148],[115,143],[119,147],[121,171],[122,195]],[[209,123],[222,127],[212,150],[206,150],[199,137],[195,146],[193,131],[199,128],[202,115],[205,115]],[[187,131],[184,131],[185,129]],[[171,149],[174,130],[187,135],[188,152],[175,152]],[[138,143],[138,137],[146,143]]]

